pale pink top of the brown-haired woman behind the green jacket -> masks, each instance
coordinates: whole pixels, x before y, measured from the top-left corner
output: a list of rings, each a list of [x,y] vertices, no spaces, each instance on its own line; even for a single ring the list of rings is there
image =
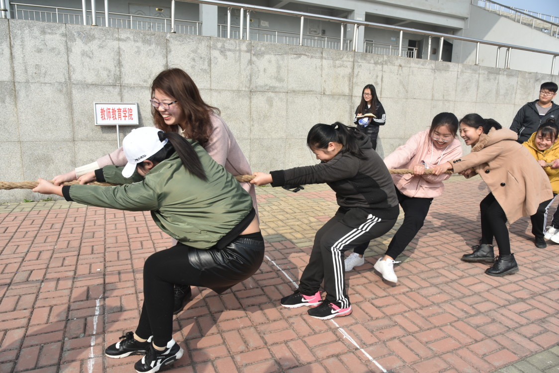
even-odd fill
[[[210,118],[211,124],[212,126],[214,126],[214,130],[211,133],[210,141],[205,147],[206,152],[208,152],[208,154],[210,154],[210,157],[214,158],[217,163],[225,167],[226,171],[233,174],[233,176],[252,175],[248,160],[247,158],[245,158],[241,148],[239,147],[239,144],[235,140],[235,136],[233,136],[233,133],[231,133],[231,130],[225,124],[225,121],[216,114],[211,114]],[[126,156],[124,155],[122,147],[116,149],[111,154],[103,155],[103,157],[97,159],[97,167],[93,167],[93,169],[102,168],[107,166],[108,164],[125,166]],[[76,171],[78,174],[78,169]],[[83,173],[85,172],[80,172],[80,174]],[[256,203],[256,191],[254,190],[254,185],[248,182],[244,182],[241,183],[241,186],[252,197],[254,209],[258,212]]]

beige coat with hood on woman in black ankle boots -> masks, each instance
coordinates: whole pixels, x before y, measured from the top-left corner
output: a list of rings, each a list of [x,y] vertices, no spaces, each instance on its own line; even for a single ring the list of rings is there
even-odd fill
[[[541,202],[553,198],[547,174],[517,138],[509,129],[491,129],[470,154],[451,162],[454,172],[473,168],[480,174],[509,223],[535,214]]]

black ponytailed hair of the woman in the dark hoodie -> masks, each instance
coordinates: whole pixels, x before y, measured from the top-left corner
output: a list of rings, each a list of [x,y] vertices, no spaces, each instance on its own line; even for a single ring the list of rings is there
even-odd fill
[[[366,156],[359,147],[356,128],[350,128],[340,122],[334,124],[315,124],[307,135],[307,147],[311,149],[326,149],[329,143],[339,143],[344,146],[342,152],[349,152],[360,159]]]

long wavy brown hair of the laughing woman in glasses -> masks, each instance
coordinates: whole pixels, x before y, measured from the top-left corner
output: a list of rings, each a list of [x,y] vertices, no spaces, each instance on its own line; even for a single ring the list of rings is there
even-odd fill
[[[181,69],[173,68],[163,70],[153,79],[151,83],[151,97],[155,95],[155,89],[159,89],[177,100],[174,105],[178,105],[186,118],[184,124],[184,137],[198,141],[205,147],[212,133],[210,114],[212,112],[220,114],[217,107],[208,105],[202,100],[200,91],[190,75]],[[163,120],[157,107],[151,107],[151,115],[156,128],[165,132],[178,132],[178,125],[167,125]]]

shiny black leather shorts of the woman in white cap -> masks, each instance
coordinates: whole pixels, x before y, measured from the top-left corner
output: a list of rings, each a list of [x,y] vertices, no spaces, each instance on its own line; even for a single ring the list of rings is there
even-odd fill
[[[264,242],[236,238],[225,248],[207,250],[189,248],[188,261],[200,270],[202,286],[221,294],[254,275],[264,259]]]

